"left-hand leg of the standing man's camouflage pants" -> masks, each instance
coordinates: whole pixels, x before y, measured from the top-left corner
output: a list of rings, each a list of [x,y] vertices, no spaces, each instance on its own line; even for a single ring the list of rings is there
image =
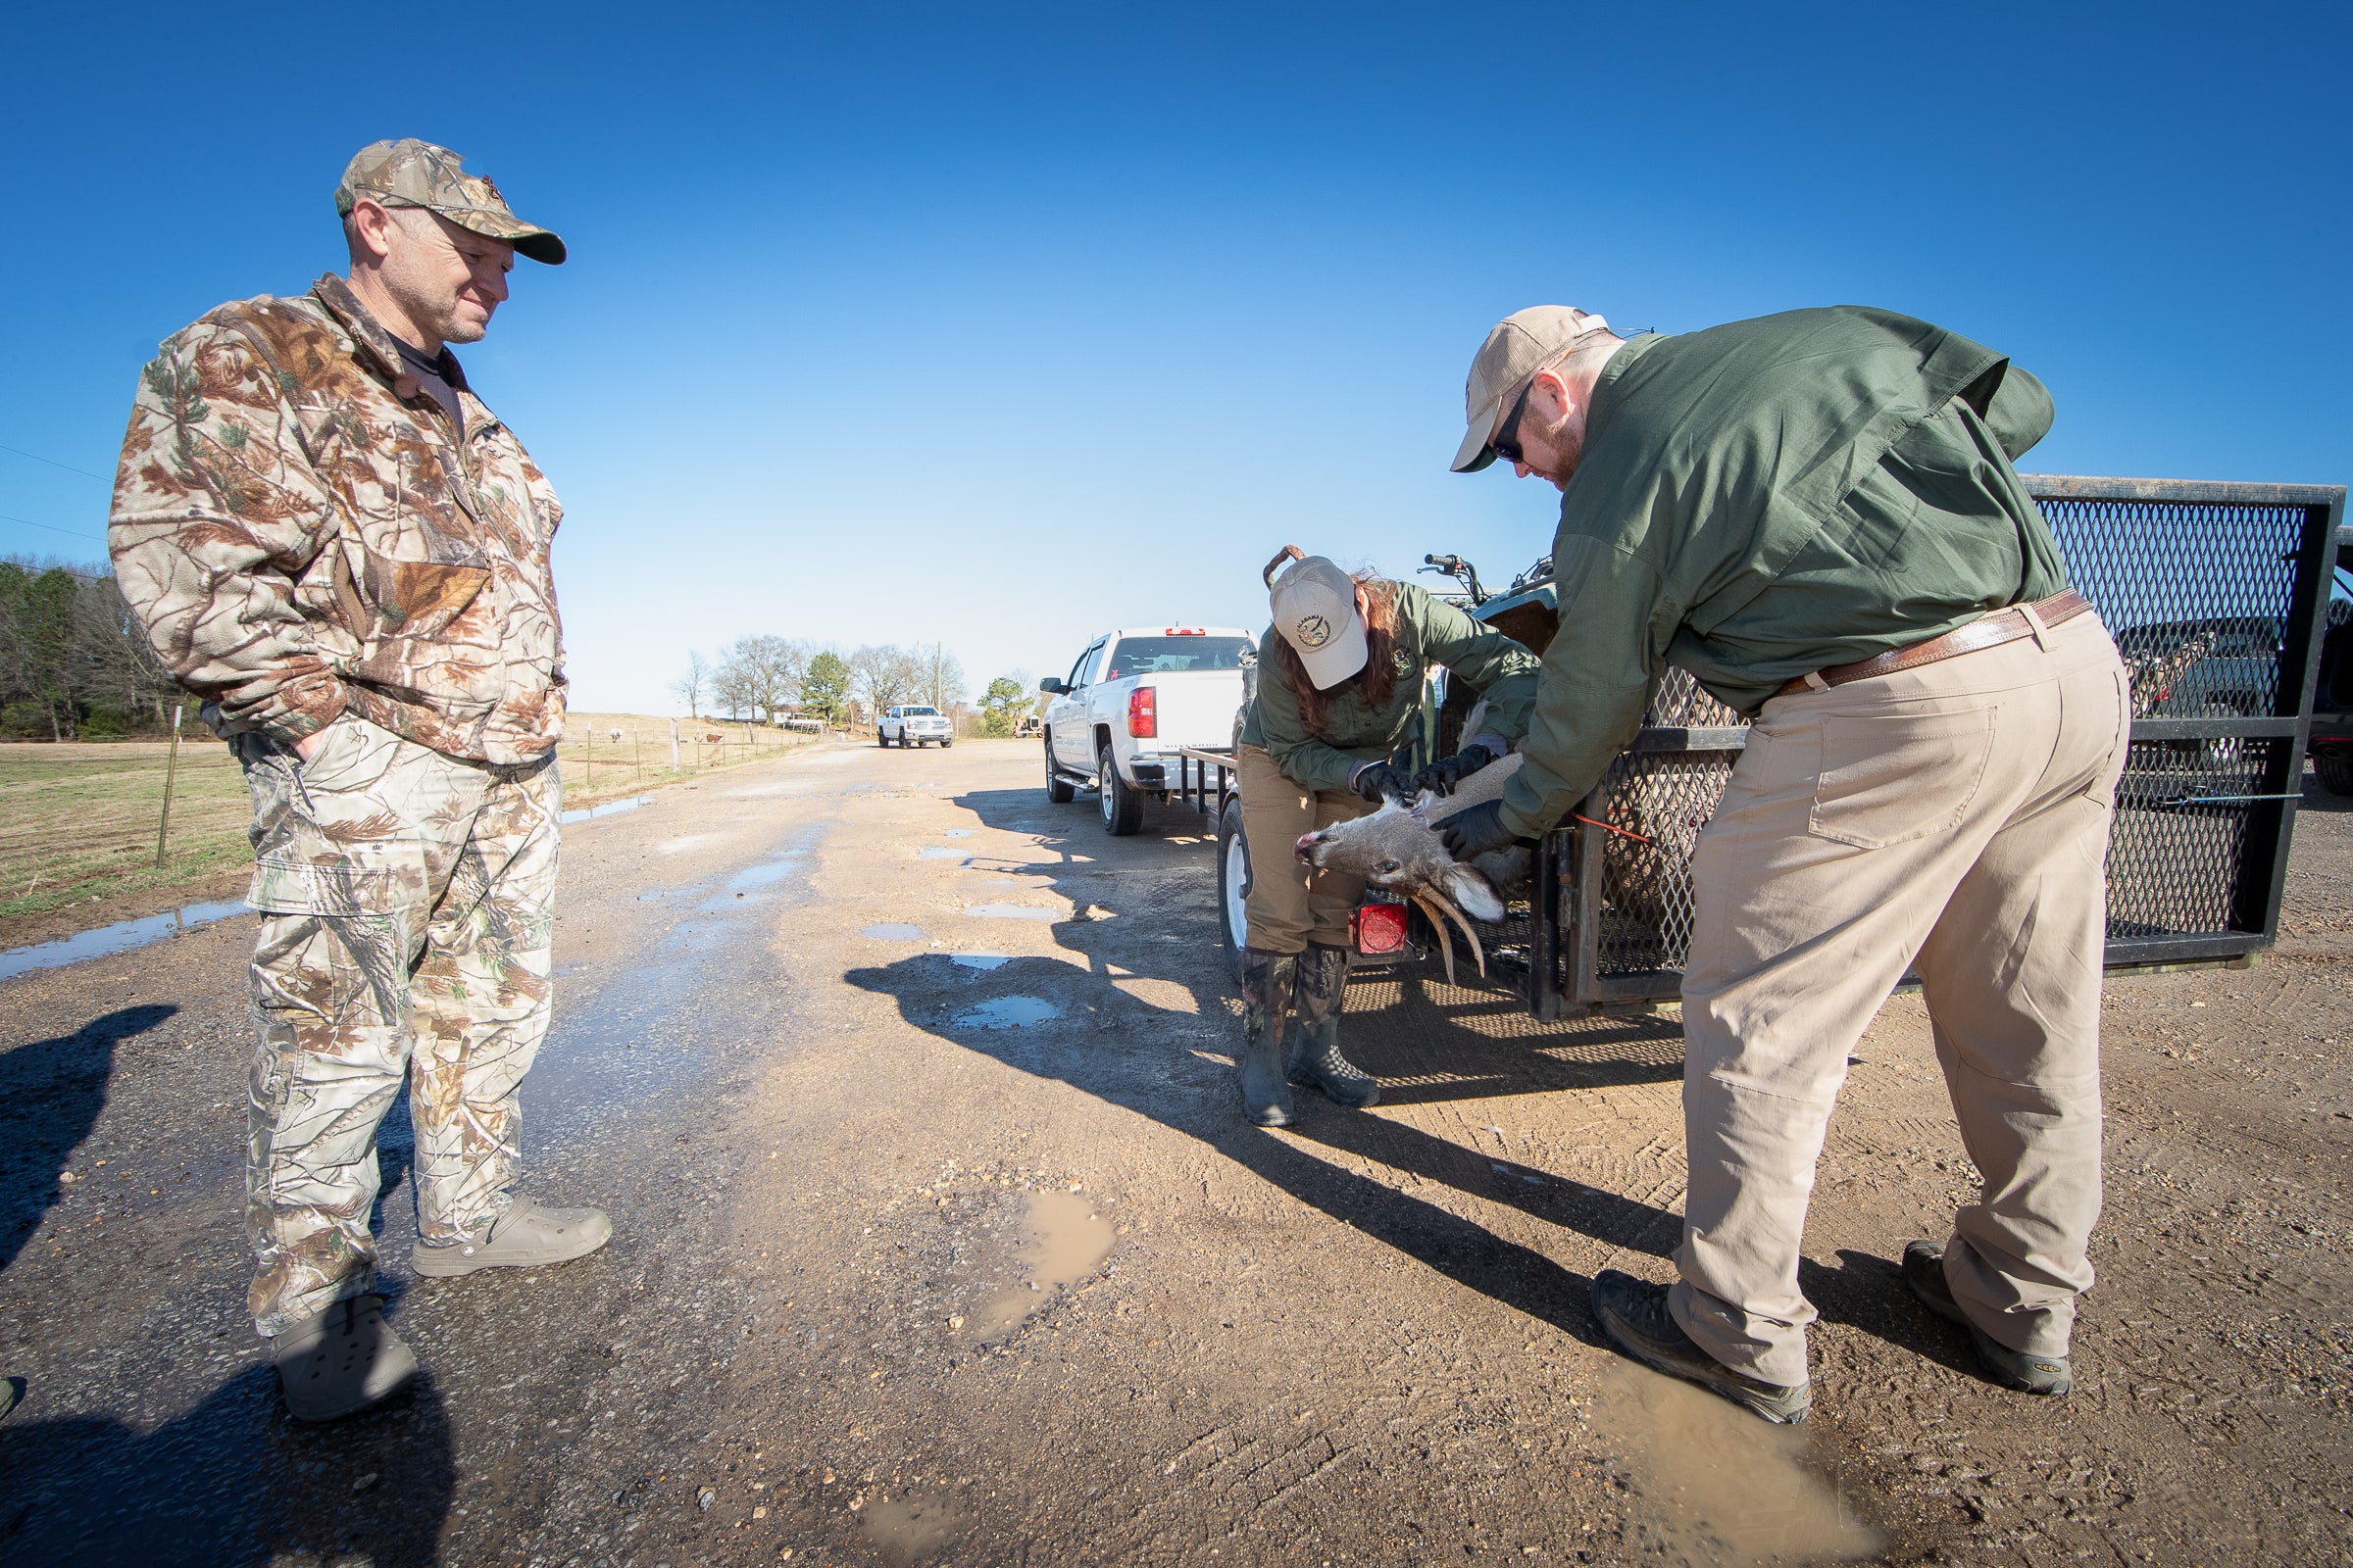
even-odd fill
[[[374,1288],[376,1124],[409,1065],[409,971],[492,776],[336,719],[311,762],[242,736],[261,910],[245,1222],[254,1326]]]

